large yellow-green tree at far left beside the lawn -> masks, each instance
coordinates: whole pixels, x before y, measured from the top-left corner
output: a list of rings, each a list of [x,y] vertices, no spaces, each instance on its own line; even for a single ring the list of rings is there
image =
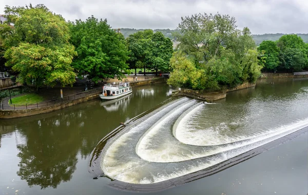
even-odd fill
[[[18,81],[34,84],[62,86],[75,82],[70,66],[74,47],[68,43],[69,29],[61,15],[53,14],[42,4],[33,7],[6,6],[5,14],[14,27],[4,24],[0,34],[4,47],[6,66],[18,72]]]

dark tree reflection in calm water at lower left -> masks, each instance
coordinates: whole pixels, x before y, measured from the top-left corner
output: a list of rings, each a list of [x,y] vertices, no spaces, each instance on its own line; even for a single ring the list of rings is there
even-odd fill
[[[76,131],[70,130],[66,124],[78,118],[80,113],[61,113],[55,119],[28,123],[26,128],[17,126],[26,137],[26,143],[17,145],[17,156],[20,158],[17,175],[26,180],[29,186],[56,188],[61,182],[72,178],[81,142],[79,122],[72,124]]]

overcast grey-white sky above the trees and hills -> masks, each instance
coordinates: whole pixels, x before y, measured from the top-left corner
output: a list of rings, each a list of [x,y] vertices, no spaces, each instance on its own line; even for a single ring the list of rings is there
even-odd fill
[[[253,34],[308,33],[308,0],[0,0],[4,6],[44,4],[67,20],[94,15],[112,28],[175,29],[181,16],[221,13],[235,16]]]

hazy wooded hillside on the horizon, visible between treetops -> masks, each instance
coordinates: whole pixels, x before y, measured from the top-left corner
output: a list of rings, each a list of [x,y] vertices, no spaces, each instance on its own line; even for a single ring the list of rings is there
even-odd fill
[[[121,28],[122,34],[125,36],[129,36],[130,34],[133,34],[138,31],[142,31],[144,29],[131,29],[131,28]],[[160,31],[162,32],[166,37],[169,37],[172,41],[174,40],[174,37],[172,37],[172,32],[176,32],[177,30],[170,30],[170,29],[155,29],[154,32]],[[279,38],[284,35],[282,33],[277,34],[254,34],[253,38],[257,45],[260,45],[262,41],[270,40],[270,41],[277,41]],[[305,43],[308,43],[308,34],[297,34],[299,35]]]

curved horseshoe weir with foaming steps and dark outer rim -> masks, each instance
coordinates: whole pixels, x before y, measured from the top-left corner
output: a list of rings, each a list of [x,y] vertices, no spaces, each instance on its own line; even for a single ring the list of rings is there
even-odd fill
[[[308,130],[308,118],[253,128],[254,121],[239,114],[239,119],[210,124],[217,106],[182,97],[132,119],[103,139],[103,149],[94,150],[101,151],[93,154],[102,170],[97,173],[121,189],[163,189],[223,170]]]

